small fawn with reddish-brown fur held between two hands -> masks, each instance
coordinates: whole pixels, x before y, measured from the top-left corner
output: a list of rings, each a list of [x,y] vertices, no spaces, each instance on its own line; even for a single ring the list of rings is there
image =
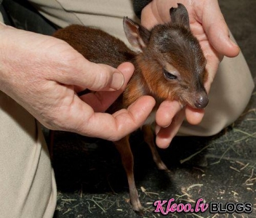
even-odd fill
[[[153,96],[157,102],[156,108],[164,100],[177,100],[182,105],[204,108],[208,102],[204,89],[207,72],[199,41],[190,31],[188,13],[182,4],[178,4],[177,9],[170,9],[170,17],[172,23],[156,25],[151,31],[127,17],[124,18],[127,39],[140,50],[139,53],[133,52],[122,41],[108,33],[81,25],[71,25],[57,31],[54,36],[67,41],[92,62],[104,63],[114,68],[127,61],[135,65],[135,73],[127,88],[108,109],[109,113],[127,108],[143,95]],[[168,70],[177,78],[166,78],[164,70]],[[143,131],[156,165],[159,169],[167,170],[157,153],[151,128],[143,126]],[[132,208],[135,211],[143,211],[135,187],[129,135],[114,144],[127,171]]]

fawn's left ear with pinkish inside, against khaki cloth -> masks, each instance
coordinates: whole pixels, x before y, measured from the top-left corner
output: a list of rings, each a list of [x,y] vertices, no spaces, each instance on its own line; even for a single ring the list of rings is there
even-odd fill
[[[143,48],[148,44],[151,32],[128,17],[124,17],[123,25],[124,33],[126,34],[129,43],[132,47],[142,52]]]

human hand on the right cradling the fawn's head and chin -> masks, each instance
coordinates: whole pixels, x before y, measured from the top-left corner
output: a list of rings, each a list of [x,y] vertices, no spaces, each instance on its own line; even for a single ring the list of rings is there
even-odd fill
[[[150,29],[153,25],[169,22],[169,9],[177,7],[177,3],[184,4],[187,8],[191,31],[199,40],[207,59],[206,69],[209,75],[204,86],[209,92],[223,55],[236,57],[239,55],[239,47],[229,38],[228,26],[217,0],[153,0],[142,11],[142,25]],[[178,102],[163,102],[156,113],[156,144],[160,148],[167,148],[185,117],[190,124],[199,124],[203,116],[203,109],[186,106],[180,110]]]

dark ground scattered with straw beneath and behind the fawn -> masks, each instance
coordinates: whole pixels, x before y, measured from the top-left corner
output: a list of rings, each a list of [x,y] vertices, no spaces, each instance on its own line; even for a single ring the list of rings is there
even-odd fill
[[[220,7],[256,78],[256,1],[221,0]],[[246,87],[245,87],[246,88]],[[214,137],[176,137],[159,150],[170,172],[159,171],[140,131],[132,134],[135,182],[145,207],[175,198],[194,204],[249,202],[251,214],[169,214],[169,217],[256,217],[256,92],[247,110]],[[55,218],[139,217],[129,203],[127,177],[119,153],[110,142],[56,132],[54,161],[57,179]],[[167,217],[168,217],[167,216]]]

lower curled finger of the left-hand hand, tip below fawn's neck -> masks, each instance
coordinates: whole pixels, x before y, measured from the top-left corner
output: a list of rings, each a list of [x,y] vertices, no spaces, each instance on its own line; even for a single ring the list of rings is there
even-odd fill
[[[143,96],[132,103],[129,108],[119,110],[113,115],[91,113],[88,116],[87,114],[87,117],[79,118],[80,125],[77,132],[105,140],[119,140],[143,125],[155,103],[153,97]]]

